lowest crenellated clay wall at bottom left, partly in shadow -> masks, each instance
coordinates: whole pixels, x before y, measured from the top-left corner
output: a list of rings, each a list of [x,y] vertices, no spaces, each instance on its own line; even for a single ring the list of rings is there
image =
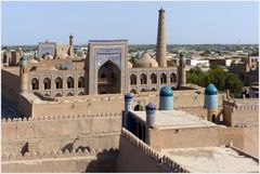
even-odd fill
[[[115,172],[118,149],[78,149],[25,155],[2,155],[2,172],[11,173],[86,173]]]

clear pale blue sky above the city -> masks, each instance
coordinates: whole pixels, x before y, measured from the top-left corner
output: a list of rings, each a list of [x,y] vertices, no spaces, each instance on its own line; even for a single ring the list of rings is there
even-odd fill
[[[128,39],[156,43],[158,10],[166,10],[167,43],[258,43],[258,2],[2,2],[2,44],[75,43]]]

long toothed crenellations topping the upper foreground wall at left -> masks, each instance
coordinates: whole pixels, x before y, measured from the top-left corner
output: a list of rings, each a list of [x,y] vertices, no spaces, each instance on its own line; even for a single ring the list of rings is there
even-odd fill
[[[102,118],[102,117],[120,117],[121,112],[110,112],[110,113],[98,113],[98,115],[77,115],[77,116],[44,116],[35,118],[8,118],[2,119],[2,123],[13,123],[13,122],[26,122],[26,121],[52,121],[52,120],[70,120],[70,119],[88,119],[88,118]]]

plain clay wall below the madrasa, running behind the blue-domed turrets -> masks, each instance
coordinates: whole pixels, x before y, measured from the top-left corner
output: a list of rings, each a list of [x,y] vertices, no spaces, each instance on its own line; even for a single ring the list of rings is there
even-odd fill
[[[220,94],[222,95],[222,94]],[[193,99],[191,99],[193,98]],[[220,97],[219,97],[220,98]],[[134,95],[132,102],[132,109],[136,105],[142,105],[143,108],[148,103],[155,104],[157,107],[159,106],[159,96],[157,93],[150,94],[140,94]],[[219,101],[219,103],[222,103]],[[63,115],[96,115],[100,112],[119,112],[125,107],[123,95],[99,95],[99,96],[73,96],[73,97],[61,97],[56,103],[48,103],[48,104],[31,104],[32,107],[32,117],[39,116],[63,116]],[[109,107],[108,107],[109,106]],[[204,106],[204,94],[197,94],[196,91],[185,91],[174,93],[174,107],[182,108],[195,108],[192,112],[195,115],[204,115],[205,110],[196,109],[202,108]],[[58,110],[58,112],[56,111]],[[195,112],[194,112],[195,111]]]

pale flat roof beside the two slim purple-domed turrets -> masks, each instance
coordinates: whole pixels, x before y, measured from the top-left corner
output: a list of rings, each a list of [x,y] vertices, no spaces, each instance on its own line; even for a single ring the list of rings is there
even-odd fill
[[[146,122],[145,111],[131,111],[131,113],[136,119]],[[218,125],[182,110],[156,110],[154,126],[158,129],[180,129]]]

